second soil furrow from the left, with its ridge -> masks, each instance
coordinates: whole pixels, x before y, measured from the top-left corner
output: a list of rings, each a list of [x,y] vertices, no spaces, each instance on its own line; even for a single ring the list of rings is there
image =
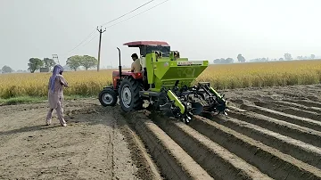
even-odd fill
[[[183,122],[153,118],[202,168],[217,179],[271,179]]]

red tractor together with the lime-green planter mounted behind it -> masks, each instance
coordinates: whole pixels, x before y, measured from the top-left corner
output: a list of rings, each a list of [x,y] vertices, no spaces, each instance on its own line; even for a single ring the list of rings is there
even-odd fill
[[[182,119],[185,123],[195,114],[223,112],[224,95],[218,94],[208,82],[192,86],[193,81],[209,66],[209,61],[189,61],[179,52],[171,51],[162,41],[129,42],[128,47],[139,47],[142,72],[119,70],[112,72],[113,85],[99,94],[104,106],[115,105],[119,98],[124,111],[141,110],[144,100],[153,110],[160,110]]]

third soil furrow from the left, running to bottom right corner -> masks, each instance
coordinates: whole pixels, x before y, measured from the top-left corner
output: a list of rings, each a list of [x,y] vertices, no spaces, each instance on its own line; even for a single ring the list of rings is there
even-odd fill
[[[202,135],[275,179],[320,179],[321,171],[210,119],[195,116],[189,124]]]

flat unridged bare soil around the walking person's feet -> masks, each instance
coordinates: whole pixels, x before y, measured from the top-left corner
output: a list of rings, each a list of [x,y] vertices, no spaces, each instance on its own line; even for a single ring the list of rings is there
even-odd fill
[[[161,178],[118,110],[67,101],[67,127],[55,117],[45,126],[46,111],[45,102],[0,107],[0,179]]]

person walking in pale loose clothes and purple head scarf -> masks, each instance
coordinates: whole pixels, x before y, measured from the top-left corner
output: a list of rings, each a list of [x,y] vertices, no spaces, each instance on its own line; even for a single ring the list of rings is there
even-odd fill
[[[62,76],[63,68],[61,65],[55,65],[53,75],[49,78],[48,102],[49,111],[46,117],[46,124],[51,124],[53,110],[56,110],[61,126],[66,127],[66,121],[63,119],[63,86],[68,87],[68,82]]]

